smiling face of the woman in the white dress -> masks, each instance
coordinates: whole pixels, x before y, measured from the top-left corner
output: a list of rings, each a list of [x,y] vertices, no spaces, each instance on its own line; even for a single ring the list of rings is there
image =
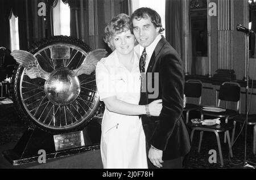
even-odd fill
[[[131,31],[117,33],[112,37],[112,45],[118,53],[126,55],[133,52],[135,37]]]

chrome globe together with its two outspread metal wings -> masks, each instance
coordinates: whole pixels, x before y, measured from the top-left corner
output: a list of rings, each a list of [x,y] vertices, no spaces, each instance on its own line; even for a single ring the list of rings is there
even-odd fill
[[[26,68],[25,74],[31,79],[42,78],[46,80],[44,92],[55,105],[68,105],[75,101],[81,91],[80,81],[77,76],[90,75],[96,68],[96,64],[105,57],[105,49],[96,49],[90,52],[81,66],[75,70],[61,66],[54,71],[46,72],[40,67],[35,55],[24,50],[14,50],[11,55],[16,62]]]

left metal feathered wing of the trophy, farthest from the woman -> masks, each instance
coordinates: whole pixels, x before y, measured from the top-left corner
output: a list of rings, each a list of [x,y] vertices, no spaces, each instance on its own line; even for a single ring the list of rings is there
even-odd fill
[[[49,72],[46,72],[40,67],[38,59],[35,55],[26,52],[24,50],[14,50],[11,52],[17,63],[26,68],[25,73],[30,79],[43,78],[47,80],[49,78]]]

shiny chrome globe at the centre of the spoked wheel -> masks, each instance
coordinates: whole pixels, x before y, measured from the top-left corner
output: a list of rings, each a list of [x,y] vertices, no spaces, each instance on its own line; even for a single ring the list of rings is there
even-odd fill
[[[68,105],[75,101],[81,91],[79,78],[68,67],[52,71],[44,84],[44,92],[55,105]]]

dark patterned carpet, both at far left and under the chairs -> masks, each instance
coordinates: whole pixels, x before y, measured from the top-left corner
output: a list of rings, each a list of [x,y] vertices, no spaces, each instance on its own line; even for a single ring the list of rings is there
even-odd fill
[[[6,102],[9,100],[5,100]],[[9,101],[11,102],[11,101]],[[2,104],[1,104],[2,103]],[[18,114],[15,112],[13,104],[7,104],[0,101],[0,145],[17,142],[22,136],[23,132],[27,129],[23,122],[19,120]],[[240,128],[236,128],[237,132]],[[256,156],[253,155],[253,129],[248,126],[247,133],[247,160],[251,162],[256,162]],[[236,168],[233,163],[243,162],[244,159],[244,145],[243,136],[238,138],[237,142],[233,147],[233,155],[231,158],[232,162],[229,160],[228,156],[228,144],[224,143],[224,134],[221,134],[221,147],[224,158],[224,167],[220,165],[220,157],[218,155],[218,147],[215,135],[211,132],[205,132],[203,137],[203,142],[201,145],[200,153],[197,153],[197,146],[199,143],[199,132],[195,132],[192,148],[188,156],[184,160],[184,168],[186,169],[218,169],[218,168]],[[217,152],[217,163],[210,164],[208,159],[211,156],[209,154],[210,149],[214,149]],[[241,167],[241,166],[238,166]]]

